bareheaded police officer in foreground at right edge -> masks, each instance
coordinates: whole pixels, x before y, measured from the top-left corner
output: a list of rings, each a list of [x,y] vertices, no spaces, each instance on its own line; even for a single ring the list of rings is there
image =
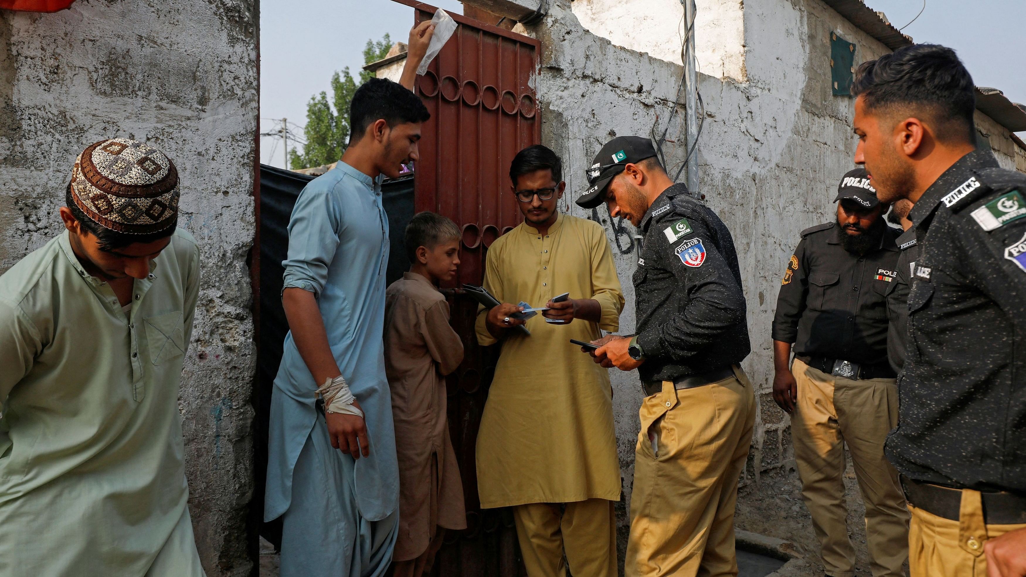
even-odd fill
[[[886,454],[912,512],[913,577],[1026,575],[1026,176],[975,147],[954,51],[863,64],[855,162],[907,198],[919,255],[898,428]]]

